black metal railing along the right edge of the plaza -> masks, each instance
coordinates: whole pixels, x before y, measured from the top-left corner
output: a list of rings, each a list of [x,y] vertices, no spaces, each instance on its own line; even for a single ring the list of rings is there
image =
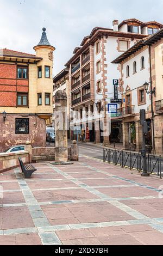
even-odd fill
[[[134,169],[139,173],[143,171],[143,156],[141,153],[104,148],[103,161],[122,168]],[[146,163],[148,173],[158,175],[162,179],[163,157],[148,154],[146,155]]]

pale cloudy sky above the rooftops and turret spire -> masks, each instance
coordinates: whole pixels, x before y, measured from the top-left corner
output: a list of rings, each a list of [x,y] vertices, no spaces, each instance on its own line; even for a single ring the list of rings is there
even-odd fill
[[[35,53],[42,27],[56,47],[54,75],[93,27],[135,17],[163,23],[163,0],[0,0],[0,48]]]

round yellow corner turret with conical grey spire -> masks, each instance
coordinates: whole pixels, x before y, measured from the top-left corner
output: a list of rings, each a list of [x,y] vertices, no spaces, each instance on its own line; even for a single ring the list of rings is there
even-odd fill
[[[46,28],[42,28],[42,36],[38,45],[34,47],[36,56],[42,58],[40,62],[37,63],[37,94],[41,97],[41,105],[37,106],[37,113],[41,113],[40,117],[43,119],[48,119],[49,114],[53,114],[53,52],[55,47],[53,47],[46,35]],[[39,97],[38,96],[38,97]],[[49,96],[49,102],[48,102]],[[43,111],[42,111],[43,109]]]

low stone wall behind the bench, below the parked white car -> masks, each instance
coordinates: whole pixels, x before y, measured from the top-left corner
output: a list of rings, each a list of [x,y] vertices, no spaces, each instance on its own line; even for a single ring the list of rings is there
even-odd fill
[[[29,163],[28,151],[18,151],[17,153],[3,153],[0,155],[0,173],[6,172],[20,166],[18,157],[21,157],[24,163]]]

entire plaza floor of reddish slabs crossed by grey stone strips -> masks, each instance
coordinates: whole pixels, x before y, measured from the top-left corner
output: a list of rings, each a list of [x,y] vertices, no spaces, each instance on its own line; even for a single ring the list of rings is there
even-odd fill
[[[163,245],[161,179],[81,157],[0,174],[0,245]]]

